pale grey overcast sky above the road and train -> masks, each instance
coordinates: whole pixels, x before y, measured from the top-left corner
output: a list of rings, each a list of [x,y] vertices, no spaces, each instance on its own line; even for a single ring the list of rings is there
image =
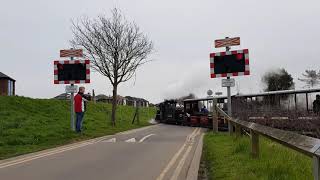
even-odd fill
[[[241,37],[250,53],[251,75],[236,77],[241,93],[262,91],[261,76],[285,68],[296,82],[305,69],[320,69],[319,0],[1,0],[0,72],[16,82],[18,95],[51,98],[64,91],[53,84],[53,60],[69,48],[71,19],[91,18],[120,8],[155,44],[153,61],[142,66],[136,78],[120,85],[119,94],[160,102],[221,88],[221,79],[210,79],[209,53],[214,40]],[[94,72],[87,90],[111,94],[106,78]]]

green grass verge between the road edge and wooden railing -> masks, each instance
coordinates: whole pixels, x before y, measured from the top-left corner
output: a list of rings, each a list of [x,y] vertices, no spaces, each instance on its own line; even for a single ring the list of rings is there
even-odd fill
[[[260,137],[260,157],[250,156],[250,139],[227,133],[207,133],[203,160],[209,179],[223,180],[309,180],[311,158]]]

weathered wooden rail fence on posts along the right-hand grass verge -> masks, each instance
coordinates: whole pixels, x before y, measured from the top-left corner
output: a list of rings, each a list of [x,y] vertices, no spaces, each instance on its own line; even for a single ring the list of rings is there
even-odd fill
[[[241,136],[242,129],[246,129],[250,132],[251,155],[254,158],[259,157],[259,135],[262,135],[313,158],[313,176],[315,180],[320,180],[320,139],[263,126],[253,122],[233,119],[218,106],[215,107],[216,111],[214,112],[213,118],[214,131],[218,131],[218,117],[221,115],[229,122],[230,133],[235,133],[238,137]],[[235,129],[235,131],[233,129]]]

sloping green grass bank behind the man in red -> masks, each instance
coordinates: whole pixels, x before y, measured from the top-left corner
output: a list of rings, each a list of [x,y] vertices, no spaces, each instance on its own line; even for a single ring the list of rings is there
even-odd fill
[[[135,109],[118,106],[116,127],[111,105],[89,103],[83,133],[70,130],[70,102],[0,96],[0,159],[35,152],[149,125],[154,108],[140,109],[140,124],[131,124]]]

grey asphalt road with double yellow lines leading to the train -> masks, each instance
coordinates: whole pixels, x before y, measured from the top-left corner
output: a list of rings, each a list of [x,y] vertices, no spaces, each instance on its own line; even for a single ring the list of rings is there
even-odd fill
[[[186,179],[202,132],[160,124],[68,145],[0,161],[0,179]]]

